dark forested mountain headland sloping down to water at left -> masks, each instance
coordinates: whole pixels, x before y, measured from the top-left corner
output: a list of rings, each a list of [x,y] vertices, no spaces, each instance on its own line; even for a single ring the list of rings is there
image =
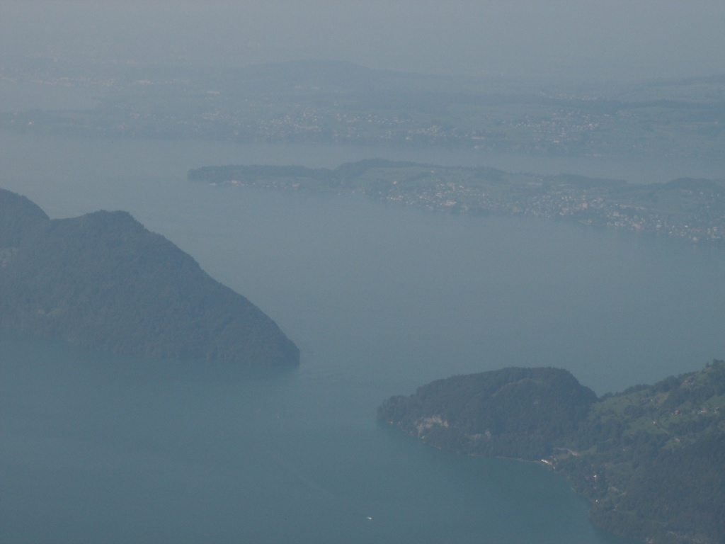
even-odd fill
[[[4,189],[0,326],[141,357],[299,364],[272,319],[128,213],[50,219]]]

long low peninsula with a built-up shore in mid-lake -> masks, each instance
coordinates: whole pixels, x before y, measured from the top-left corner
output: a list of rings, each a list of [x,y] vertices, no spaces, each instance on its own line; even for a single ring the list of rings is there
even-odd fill
[[[334,169],[206,166],[189,170],[188,178],[210,184],[361,193],[449,213],[523,215],[725,245],[725,178],[631,184],[381,159]]]

